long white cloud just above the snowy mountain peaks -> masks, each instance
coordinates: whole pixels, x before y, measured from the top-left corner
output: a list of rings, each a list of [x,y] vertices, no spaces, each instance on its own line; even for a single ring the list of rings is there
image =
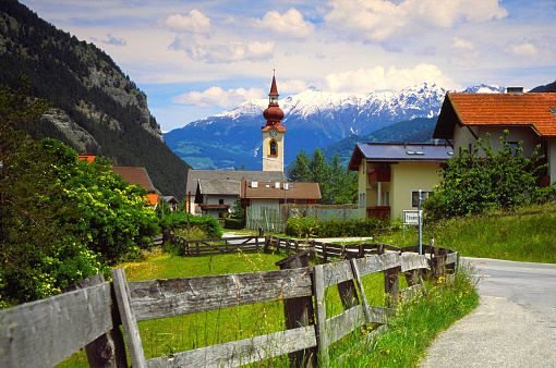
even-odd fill
[[[370,93],[376,90],[399,90],[423,82],[455,89],[459,86],[432,64],[419,64],[413,69],[397,69],[383,66],[360,69],[342,73],[331,73],[326,76],[328,88],[333,91]]]

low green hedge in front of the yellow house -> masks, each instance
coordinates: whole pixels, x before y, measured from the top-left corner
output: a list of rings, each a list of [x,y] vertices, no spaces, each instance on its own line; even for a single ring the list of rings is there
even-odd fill
[[[286,235],[298,237],[370,236],[376,229],[388,225],[387,220],[378,219],[317,221],[307,218],[289,218],[286,223]]]

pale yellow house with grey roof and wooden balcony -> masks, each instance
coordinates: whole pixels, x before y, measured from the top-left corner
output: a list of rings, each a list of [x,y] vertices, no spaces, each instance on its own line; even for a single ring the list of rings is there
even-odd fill
[[[438,185],[437,170],[451,154],[445,144],[356,145],[348,169],[359,173],[359,217],[395,219],[416,209],[419,191]]]

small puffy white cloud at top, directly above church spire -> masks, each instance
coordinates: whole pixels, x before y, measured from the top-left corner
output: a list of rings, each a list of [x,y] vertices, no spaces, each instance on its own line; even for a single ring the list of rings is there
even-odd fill
[[[277,11],[268,12],[255,24],[261,28],[270,29],[276,34],[288,37],[303,38],[315,33],[315,25],[303,20],[303,15],[294,8],[283,14]]]

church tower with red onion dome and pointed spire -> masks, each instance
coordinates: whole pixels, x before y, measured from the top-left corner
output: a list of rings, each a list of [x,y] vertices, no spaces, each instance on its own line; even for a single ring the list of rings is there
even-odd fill
[[[266,125],[261,128],[263,133],[263,171],[283,171],[286,126],[280,125],[283,111],[278,106],[278,96],[276,76],[274,75],[270,94],[268,94],[268,108],[263,112]]]

